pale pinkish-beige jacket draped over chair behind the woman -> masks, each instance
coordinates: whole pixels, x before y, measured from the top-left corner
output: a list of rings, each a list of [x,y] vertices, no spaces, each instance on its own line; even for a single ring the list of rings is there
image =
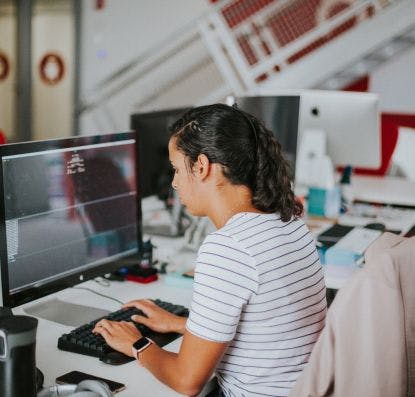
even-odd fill
[[[415,396],[415,237],[392,233],[339,290],[290,397]]]

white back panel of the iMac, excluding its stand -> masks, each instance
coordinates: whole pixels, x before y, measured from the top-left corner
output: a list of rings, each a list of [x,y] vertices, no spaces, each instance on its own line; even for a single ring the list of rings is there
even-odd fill
[[[380,113],[376,94],[304,91],[300,102],[299,142],[309,130],[325,133],[326,153],[336,166],[380,166]]]

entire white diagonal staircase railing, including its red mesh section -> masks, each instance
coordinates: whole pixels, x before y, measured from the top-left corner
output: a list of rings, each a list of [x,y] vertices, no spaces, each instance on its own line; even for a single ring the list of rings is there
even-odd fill
[[[101,108],[105,109],[105,117],[110,118],[106,108],[108,98],[121,95],[132,84],[151,78],[155,70],[161,70],[166,62],[174,57],[180,58],[180,54],[189,53],[193,47],[199,50],[192,50],[193,56],[186,58],[183,67],[175,72],[160,73],[163,76],[152,81],[152,89],[144,95],[141,92],[140,98],[134,99],[135,110],[155,103],[166,90],[212,62],[222,76],[223,84],[206,93],[200,102],[222,100],[229,94],[243,94],[273,76],[282,75],[299,60],[375,18],[387,7],[404,1],[212,0],[214,4],[209,12],[87,92],[82,98],[79,113],[102,113],[99,111]]]

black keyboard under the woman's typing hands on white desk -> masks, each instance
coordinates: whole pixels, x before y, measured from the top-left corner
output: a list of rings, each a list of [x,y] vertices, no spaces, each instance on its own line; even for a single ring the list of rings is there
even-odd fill
[[[178,316],[187,317],[189,315],[189,310],[184,306],[164,302],[159,299],[153,300],[153,302],[168,312]],[[63,334],[58,339],[58,348],[73,353],[84,354],[86,356],[98,357],[101,361],[112,365],[125,364],[129,361],[133,361],[134,358],[117,352],[108,346],[104,338],[101,335],[93,334],[92,330],[94,329],[95,324],[104,318],[112,321],[132,322],[131,316],[135,314],[143,315],[143,312],[134,307],[120,309],[91,321],[88,324],[81,325],[72,330],[69,334]],[[158,333],[143,324],[133,323],[144,336],[151,338],[159,346],[167,345],[180,336],[180,334],[174,332],[166,334]]]

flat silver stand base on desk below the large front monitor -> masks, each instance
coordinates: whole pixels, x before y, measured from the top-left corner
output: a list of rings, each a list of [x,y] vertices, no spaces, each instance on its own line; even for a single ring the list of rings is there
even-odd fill
[[[31,304],[23,309],[27,314],[55,323],[78,327],[109,313],[96,307],[77,305],[57,298]]]

